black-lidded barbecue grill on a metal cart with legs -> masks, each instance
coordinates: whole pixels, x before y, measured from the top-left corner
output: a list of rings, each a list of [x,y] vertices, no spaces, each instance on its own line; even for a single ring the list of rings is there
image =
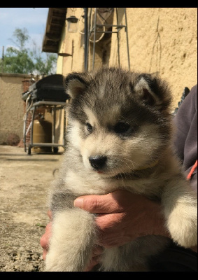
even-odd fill
[[[58,147],[65,148],[65,132],[66,132],[66,100],[69,95],[64,92],[62,83],[62,75],[55,74],[47,76],[42,80],[38,80],[29,86],[27,92],[22,93],[22,99],[26,102],[24,113],[23,141],[24,151],[31,155],[33,147],[52,147],[52,152],[57,153]],[[50,109],[52,112],[52,142],[36,143],[34,142],[34,120],[38,119],[39,109]],[[64,128],[62,143],[55,142],[56,134],[56,117],[57,110],[64,110]],[[27,135],[29,142],[27,143]]]

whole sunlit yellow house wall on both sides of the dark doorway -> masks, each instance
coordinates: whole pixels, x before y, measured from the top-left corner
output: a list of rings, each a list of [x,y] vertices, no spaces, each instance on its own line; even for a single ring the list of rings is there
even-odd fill
[[[83,8],[76,8],[77,18],[82,13]],[[66,17],[71,14],[68,8]],[[123,8],[118,8],[118,15],[119,23],[125,25]],[[115,13],[113,24],[116,24]],[[184,87],[191,88],[197,83],[197,8],[127,8],[127,27],[131,70],[156,73],[166,79],[174,95],[174,109],[181,100]],[[84,36],[79,32],[83,28],[83,20],[80,18],[78,33],[69,34],[64,29],[60,52],[72,56],[59,57],[57,69],[63,75],[84,69]],[[127,68],[125,29],[119,32],[119,36],[120,62],[121,66]],[[118,65],[117,46],[116,34],[97,43],[95,68],[101,64]],[[89,48],[90,70],[92,43]]]

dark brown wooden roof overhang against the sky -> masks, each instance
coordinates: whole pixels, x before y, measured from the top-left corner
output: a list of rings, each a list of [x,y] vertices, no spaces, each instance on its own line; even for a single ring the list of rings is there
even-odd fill
[[[49,8],[46,22],[45,35],[43,36],[43,52],[59,51],[59,42],[66,19],[67,8]]]

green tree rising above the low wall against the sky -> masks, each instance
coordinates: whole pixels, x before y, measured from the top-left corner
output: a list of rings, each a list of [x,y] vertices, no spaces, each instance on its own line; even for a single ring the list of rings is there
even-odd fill
[[[41,50],[33,42],[33,49],[25,48],[29,35],[26,28],[15,29],[13,38],[10,40],[16,45],[16,48],[9,47],[6,54],[0,60],[0,69],[3,73],[34,73],[35,75],[49,75],[55,73],[55,64],[57,55],[45,54],[46,59],[41,55]]]

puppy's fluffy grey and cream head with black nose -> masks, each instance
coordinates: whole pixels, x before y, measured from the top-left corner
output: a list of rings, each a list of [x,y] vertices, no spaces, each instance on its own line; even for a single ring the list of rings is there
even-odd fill
[[[167,84],[148,73],[102,68],[71,73],[69,141],[85,169],[101,176],[131,173],[154,162],[171,135]]]

